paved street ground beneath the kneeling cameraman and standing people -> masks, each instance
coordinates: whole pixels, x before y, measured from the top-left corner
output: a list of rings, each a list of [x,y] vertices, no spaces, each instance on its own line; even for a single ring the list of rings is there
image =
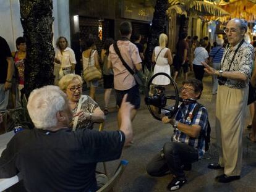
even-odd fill
[[[192,77],[192,75],[190,75]],[[181,85],[181,79],[178,80]],[[218,161],[218,152],[214,147],[215,143],[215,101],[216,95],[211,94],[211,77],[205,75],[203,78],[203,94],[198,101],[208,109],[211,123],[211,149],[205,154],[202,160],[192,165],[192,170],[187,173],[188,182],[179,191],[256,191],[256,144],[246,139],[249,132],[244,129],[243,136],[243,168],[241,179],[231,183],[218,183],[215,181],[216,175],[220,175],[221,170],[207,169],[209,162]],[[85,91],[87,93],[88,91]],[[103,89],[97,90],[96,101],[103,107]],[[116,130],[116,110],[114,109],[114,94],[111,96],[111,104],[114,112],[106,116],[105,130]],[[248,110],[249,111],[249,110]],[[249,122],[247,112],[246,123]],[[247,125],[247,124],[246,124]],[[140,110],[133,122],[134,144],[124,148],[122,159],[127,159],[129,164],[122,174],[121,180],[116,185],[116,191],[168,191],[166,186],[171,180],[170,175],[161,178],[154,178],[147,175],[145,167],[151,157],[158,152],[166,141],[169,141],[172,129],[158,120],[153,119],[148,112],[147,106],[143,102]],[[246,127],[246,126],[245,126]],[[231,157],[232,158],[232,157]],[[107,162],[109,172],[113,172],[118,161]],[[102,165],[98,165],[102,169]]]

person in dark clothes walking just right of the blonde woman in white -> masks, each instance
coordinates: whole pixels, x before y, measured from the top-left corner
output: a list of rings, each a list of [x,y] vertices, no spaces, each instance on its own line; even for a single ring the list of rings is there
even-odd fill
[[[189,72],[189,64],[188,64],[188,50],[189,50],[189,44],[186,41],[187,38],[187,33],[182,33],[181,34],[181,39],[177,43],[177,52],[176,56],[174,58],[174,81],[176,81],[177,75],[183,67],[183,72],[184,72],[184,79],[187,80],[187,73]]]

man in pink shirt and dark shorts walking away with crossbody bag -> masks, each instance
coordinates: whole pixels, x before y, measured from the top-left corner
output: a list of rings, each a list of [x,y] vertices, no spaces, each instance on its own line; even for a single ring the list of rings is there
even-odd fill
[[[129,65],[132,70],[142,69],[142,59],[137,46],[130,42],[130,36],[132,35],[132,25],[130,22],[124,21],[119,27],[121,33],[121,40],[117,41],[117,47],[121,53],[124,61]],[[116,104],[121,106],[122,98],[124,94],[128,94],[127,101],[134,105],[132,113],[130,115],[131,120],[134,119],[137,109],[140,107],[140,93],[139,86],[137,85],[132,74],[124,67],[121,59],[114,50],[113,44],[109,47],[108,56],[109,67],[113,68],[114,72],[114,90],[116,90]],[[117,117],[118,125],[120,126],[120,117]]]

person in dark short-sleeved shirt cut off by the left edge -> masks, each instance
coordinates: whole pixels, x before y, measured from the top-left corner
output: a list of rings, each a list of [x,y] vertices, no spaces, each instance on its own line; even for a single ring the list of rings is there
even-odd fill
[[[6,111],[13,71],[14,64],[10,48],[6,40],[0,36],[0,112]]]

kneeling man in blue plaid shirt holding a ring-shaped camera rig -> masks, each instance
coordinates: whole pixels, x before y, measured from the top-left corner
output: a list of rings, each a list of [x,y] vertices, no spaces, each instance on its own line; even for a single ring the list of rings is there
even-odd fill
[[[200,98],[203,91],[202,81],[191,79],[182,82],[181,98]],[[177,190],[186,183],[184,170],[191,169],[191,163],[198,161],[205,153],[205,136],[208,127],[208,112],[201,107],[194,114],[197,102],[182,102],[173,119],[161,114],[163,123],[171,123],[174,131],[171,142],[164,144],[163,149],[147,165],[147,172],[154,177],[173,174],[168,190]],[[194,116],[194,117],[193,117]]]

